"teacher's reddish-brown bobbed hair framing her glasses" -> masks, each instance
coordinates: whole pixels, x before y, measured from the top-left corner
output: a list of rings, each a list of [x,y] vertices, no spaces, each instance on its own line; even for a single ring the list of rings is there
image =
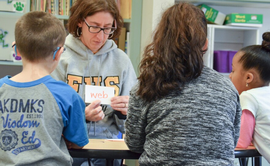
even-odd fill
[[[83,18],[97,12],[109,12],[114,17],[117,29],[114,31],[111,39],[117,38],[124,25],[124,20],[119,13],[115,0],[76,0],[70,8],[70,16],[67,24],[68,32],[74,37],[79,37],[77,34],[78,23],[83,21]]]

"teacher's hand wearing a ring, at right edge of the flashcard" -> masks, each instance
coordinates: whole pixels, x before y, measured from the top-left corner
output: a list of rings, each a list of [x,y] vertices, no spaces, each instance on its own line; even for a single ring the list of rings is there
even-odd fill
[[[111,107],[120,111],[123,115],[127,115],[129,96],[114,96],[111,98]]]

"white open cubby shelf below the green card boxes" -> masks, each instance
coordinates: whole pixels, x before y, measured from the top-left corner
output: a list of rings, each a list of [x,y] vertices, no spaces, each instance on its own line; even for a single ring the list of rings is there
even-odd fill
[[[213,69],[214,50],[239,50],[259,43],[259,29],[226,25],[207,25],[208,50],[203,55],[206,66]]]

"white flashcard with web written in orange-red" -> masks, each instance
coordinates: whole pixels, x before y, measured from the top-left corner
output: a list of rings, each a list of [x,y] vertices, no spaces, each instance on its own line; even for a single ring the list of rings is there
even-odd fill
[[[92,103],[100,100],[100,104],[111,104],[114,97],[114,88],[106,86],[85,85],[85,102]]]

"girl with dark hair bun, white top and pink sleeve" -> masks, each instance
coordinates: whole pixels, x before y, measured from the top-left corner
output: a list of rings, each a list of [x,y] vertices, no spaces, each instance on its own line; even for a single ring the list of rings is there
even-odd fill
[[[234,55],[229,77],[242,108],[237,148],[252,143],[270,163],[270,32],[262,37],[261,45],[244,47]]]

